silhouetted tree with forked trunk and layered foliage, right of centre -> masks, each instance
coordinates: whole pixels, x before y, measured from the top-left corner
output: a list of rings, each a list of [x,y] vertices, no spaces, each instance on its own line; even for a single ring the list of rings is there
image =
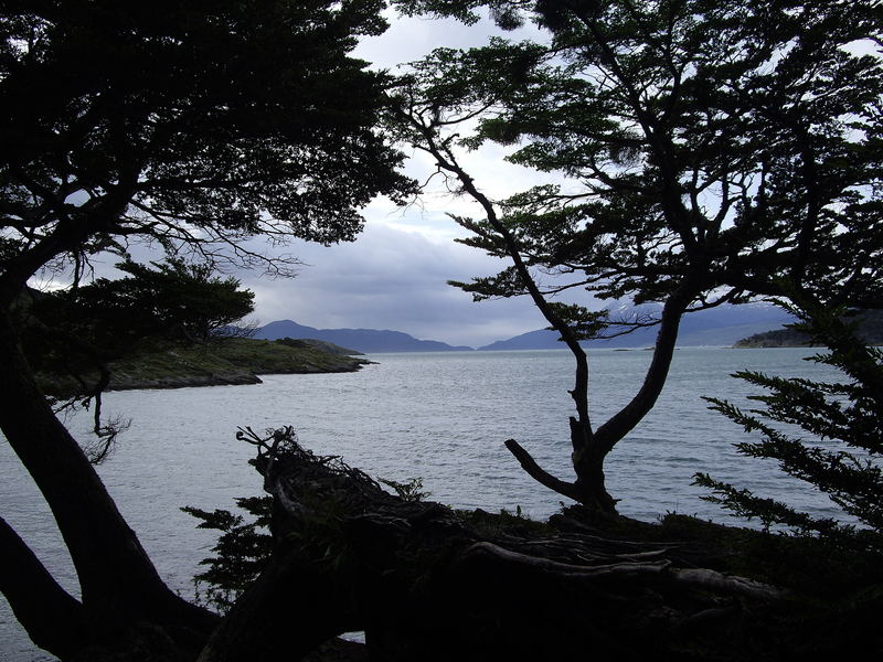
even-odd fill
[[[839,292],[881,300],[880,7],[825,0],[402,0],[407,12],[466,22],[488,8],[502,28],[530,18],[547,43],[493,38],[442,49],[401,82],[397,121],[481,217],[455,217],[464,244],[506,258],[496,276],[455,284],[477,300],[530,296],[576,360],[574,482],[517,441],[544,485],[615,511],[604,459],[653,406],[684,314],[757,296]],[[466,135],[464,136],[464,134]],[[464,149],[493,141],[546,182],[494,200]],[[658,303],[655,319],[610,319],[553,300]],[[611,325],[618,322],[619,325]],[[643,383],[593,425],[579,341],[658,324]]]

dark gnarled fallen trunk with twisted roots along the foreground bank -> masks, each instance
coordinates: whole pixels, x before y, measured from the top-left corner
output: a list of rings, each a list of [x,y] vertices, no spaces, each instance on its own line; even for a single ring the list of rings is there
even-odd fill
[[[385,492],[292,428],[238,437],[258,448],[273,552],[201,662],[298,659],[352,630],[371,660],[784,659],[821,618],[695,540],[629,540],[625,519],[578,506],[549,523],[457,512]]]

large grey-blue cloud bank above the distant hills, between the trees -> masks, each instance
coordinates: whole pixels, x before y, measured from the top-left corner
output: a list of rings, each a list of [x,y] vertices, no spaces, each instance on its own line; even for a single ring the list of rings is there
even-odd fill
[[[352,244],[298,243],[294,252],[309,265],[294,279],[238,275],[255,292],[262,323],[292,319],[317,328],[393,329],[470,346],[544,325],[526,299],[474,303],[448,286],[449,279],[468,280],[502,266],[449,239],[374,221]]]

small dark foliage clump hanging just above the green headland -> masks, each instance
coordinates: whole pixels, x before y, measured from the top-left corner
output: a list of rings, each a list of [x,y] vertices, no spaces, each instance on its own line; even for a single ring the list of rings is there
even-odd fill
[[[233,277],[215,275],[209,264],[172,258],[152,266],[125,261],[117,265],[128,274],[124,278],[29,291],[17,317],[31,366],[74,377],[79,383],[74,401],[100,398],[108,363],[169,343],[205,345],[254,310],[254,293],[240,289]]]

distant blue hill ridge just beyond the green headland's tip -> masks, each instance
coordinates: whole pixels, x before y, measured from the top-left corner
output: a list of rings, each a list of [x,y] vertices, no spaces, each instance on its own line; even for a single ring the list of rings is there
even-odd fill
[[[459,352],[472,348],[451,346],[437,340],[417,340],[401,331],[380,331],[377,329],[315,329],[292,322],[278,320],[262,327],[254,338],[277,340],[279,338],[316,339],[352,348],[366,354],[383,352]]]

